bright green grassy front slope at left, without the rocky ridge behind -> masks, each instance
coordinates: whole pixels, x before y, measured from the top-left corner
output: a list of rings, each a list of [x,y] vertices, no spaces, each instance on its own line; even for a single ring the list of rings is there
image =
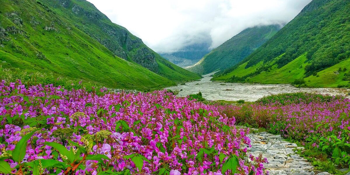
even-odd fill
[[[74,23],[34,0],[1,2],[0,60],[2,69],[27,71],[28,76],[41,72],[113,88],[147,90],[174,84],[115,56]]]

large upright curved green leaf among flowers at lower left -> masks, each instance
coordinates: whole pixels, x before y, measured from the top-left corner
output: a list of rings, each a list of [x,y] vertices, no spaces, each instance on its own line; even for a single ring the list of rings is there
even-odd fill
[[[36,129],[25,136],[21,138],[21,140],[16,144],[15,149],[12,152],[12,158],[14,161],[21,163],[22,160],[24,159],[24,156],[26,155],[27,151],[27,142],[30,139],[30,137],[39,129]]]

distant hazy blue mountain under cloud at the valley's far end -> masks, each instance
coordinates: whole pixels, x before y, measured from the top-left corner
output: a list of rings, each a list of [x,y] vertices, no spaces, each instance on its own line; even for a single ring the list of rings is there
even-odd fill
[[[170,62],[185,68],[197,63],[205,54],[210,52],[211,40],[203,43],[195,43],[188,45],[179,51],[161,54]]]

